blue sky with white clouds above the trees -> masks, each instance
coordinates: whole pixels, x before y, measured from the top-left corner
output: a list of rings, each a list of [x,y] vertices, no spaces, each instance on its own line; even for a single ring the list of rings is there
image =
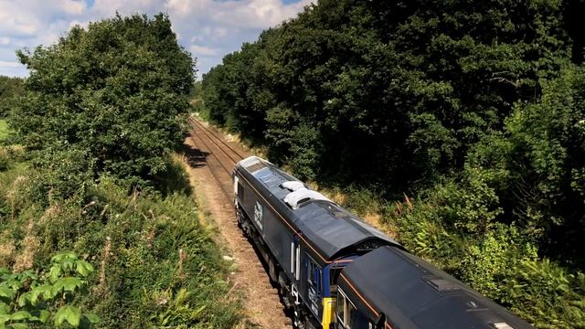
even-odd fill
[[[136,13],[167,13],[179,44],[197,58],[200,79],[261,31],[293,18],[313,0],[0,0],[0,75],[26,77],[16,49],[49,46],[70,27]]]

